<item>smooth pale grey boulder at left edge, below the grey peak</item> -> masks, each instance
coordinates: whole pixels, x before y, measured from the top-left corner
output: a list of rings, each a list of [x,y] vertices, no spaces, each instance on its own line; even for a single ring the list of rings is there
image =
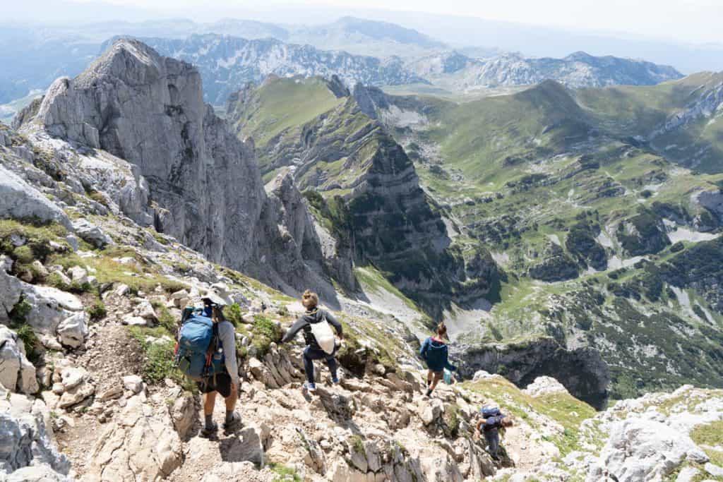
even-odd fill
[[[70,220],[60,207],[2,165],[0,165],[0,218],[37,218],[70,228]]]

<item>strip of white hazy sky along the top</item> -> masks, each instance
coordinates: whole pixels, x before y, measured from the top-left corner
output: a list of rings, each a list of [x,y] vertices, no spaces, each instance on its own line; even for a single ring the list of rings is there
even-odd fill
[[[567,27],[575,30],[643,35],[690,43],[723,43],[723,0],[71,0],[85,4],[152,9],[167,16],[243,16],[276,22],[328,22],[324,16],[299,16],[299,7],[394,9],[474,16],[489,20]],[[21,3],[22,4],[22,3]],[[283,6],[291,7],[284,9]],[[317,8],[313,8],[317,7]],[[301,8],[303,10],[303,8]],[[303,12],[302,12],[303,13]],[[309,12],[311,13],[311,12]],[[200,20],[200,19],[199,19]]]

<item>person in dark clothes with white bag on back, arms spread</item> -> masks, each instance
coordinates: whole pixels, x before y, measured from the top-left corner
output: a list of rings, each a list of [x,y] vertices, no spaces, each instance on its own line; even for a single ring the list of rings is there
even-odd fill
[[[344,334],[341,323],[337,321],[328,311],[319,309],[319,296],[307,290],[301,296],[301,304],[307,309],[296,322],[288,329],[281,343],[288,343],[296,336],[299,330],[304,330],[304,341],[307,348],[304,348],[304,371],[307,372],[307,382],[304,389],[313,392],[316,390],[314,382],[314,360],[325,360],[331,372],[331,382],[337,384],[336,358],[334,358],[341,343],[336,343],[334,333],[329,324],[336,330],[339,340],[343,340]]]

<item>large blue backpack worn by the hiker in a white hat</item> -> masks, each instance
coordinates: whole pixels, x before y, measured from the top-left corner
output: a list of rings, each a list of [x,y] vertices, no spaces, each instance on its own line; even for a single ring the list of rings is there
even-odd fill
[[[203,382],[223,372],[224,356],[218,323],[195,309],[184,309],[181,318],[176,366],[194,382]]]

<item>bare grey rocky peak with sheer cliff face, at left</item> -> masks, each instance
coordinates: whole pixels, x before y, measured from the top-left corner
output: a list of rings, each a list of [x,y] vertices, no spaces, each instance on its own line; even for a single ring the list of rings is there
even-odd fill
[[[105,150],[137,168],[147,199],[125,209],[129,217],[279,288],[298,290],[312,277],[315,288],[330,291],[310,275],[300,249],[285,249],[304,245],[269,214],[288,196],[268,197],[252,143],[236,139],[203,103],[194,66],[118,40],[75,79],[56,80],[31,108],[37,113],[21,116],[24,129]],[[288,216],[308,213],[303,203],[285,207],[296,210]],[[322,264],[318,246],[314,254],[311,261]]]

